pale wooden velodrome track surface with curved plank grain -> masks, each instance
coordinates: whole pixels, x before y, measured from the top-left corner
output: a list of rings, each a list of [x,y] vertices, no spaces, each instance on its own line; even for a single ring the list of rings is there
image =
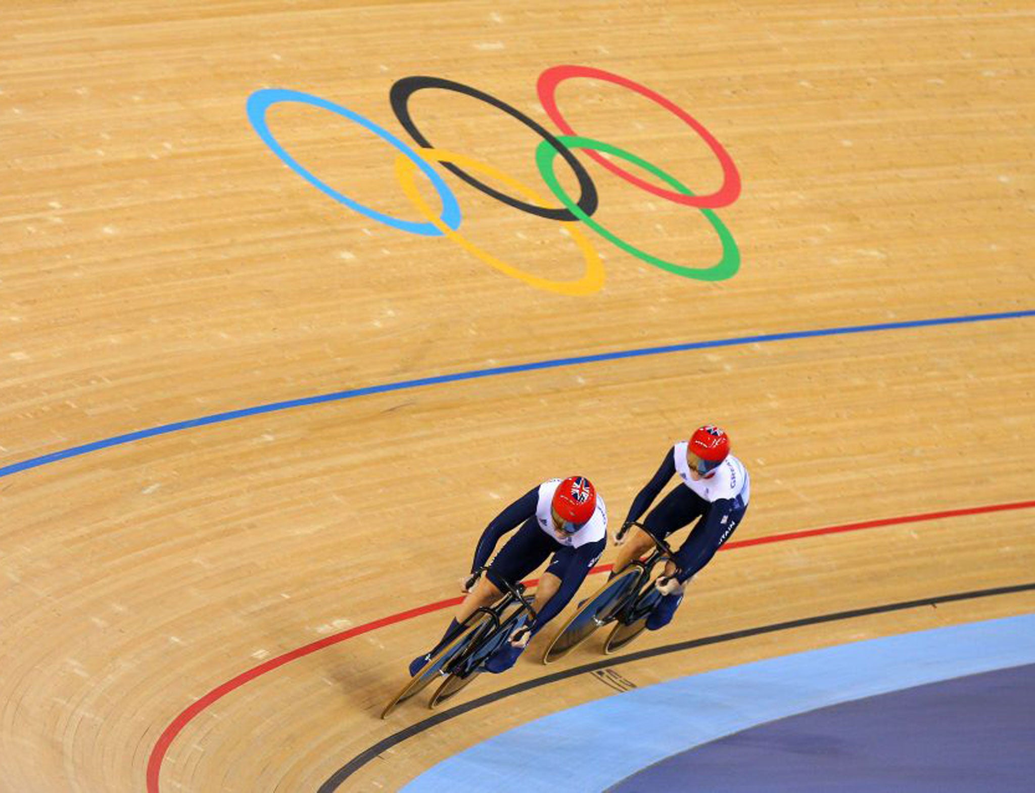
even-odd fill
[[[752,475],[735,540],[877,525],[719,554],[675,622],[632,649],[1031,583],[1035,6],[667,5],[0,8],[0,790],[316,791],[428,715],[421,701],[377,717],[447,612],[345,632],[455,597],[484,524],[542,479],[585,473],[620,523],[704,421],[730,431]],[[557,134],[536,81],[558,64],[647,86],[720,142],[742,183],[714,208],[739,248],[733,277],[663,271],[582,225],[602,287],[539,288],[318,192],[245,110],[259,89],[293,89],[409,142],[389,90],[424,75]],[[723,185],[706,139],[645,96],[574,78],[557,97],[581,135],[700,195]],[[446,90],[410,110],[442,149],[550,196],[528,126]],[[327,184],[422,222],[369,129],[298,102],[267,120]],[[579,161],[593,218],[619,237],[689,267],[722,257],[699,209]],[[556,222],[436,173],[467,239],[540,278],[581,277]],[[733,341],[692,347],[717,340]],[[521,369],[670,345],[691,347]],[[121,438],[152,428],[169,432]],[[888,520],[920,515],[935,517]],[[614,669],[642,686],[1033,608],[1030,589],[965,598]],[[549,633],[459,702],[543,675]],[[550,670],[599,657],[591,644]],[[612,694],[584,674],[508,697],[398,742],[341,789],[397,789]]]

